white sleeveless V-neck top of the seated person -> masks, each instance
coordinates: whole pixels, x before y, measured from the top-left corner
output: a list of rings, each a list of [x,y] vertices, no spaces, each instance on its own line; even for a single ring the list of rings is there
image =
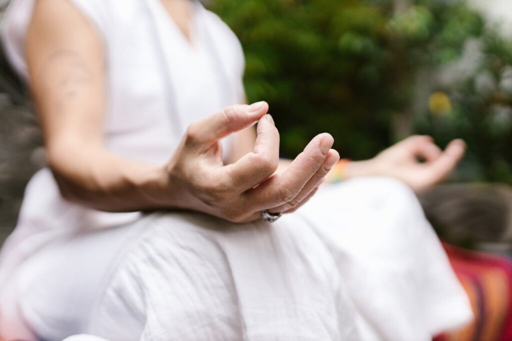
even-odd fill
[[[120,156],[163,163],[187,125],[230,104],[242,103],[243,51],[215,14],[196,3],[193,45],[160,0],[71,0],[104,40],[108,65],[105,147]],[[24,38],[34,0],[13,0],[3,22],[3,42],[15,70],[29,80]],[[177,67],[179,66],[179,67]],[[223,141],[229,151],[229,141]],[[48,169],[26,189],[18,225],[0,253],[0,319],[15,302],[20,264],[37,250],[80,231],[136,221],[65,201]],[[12,308],[14,309],[14,308]]]

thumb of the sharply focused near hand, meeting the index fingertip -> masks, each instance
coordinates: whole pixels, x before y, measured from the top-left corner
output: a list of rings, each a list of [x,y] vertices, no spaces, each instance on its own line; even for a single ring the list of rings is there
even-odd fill
[[[267,112],[268,104],[264,101],[251,105],[231,105],[192,123],[188,127],[187,138],[199,144],[215,143],[231,133],[249,127]]]

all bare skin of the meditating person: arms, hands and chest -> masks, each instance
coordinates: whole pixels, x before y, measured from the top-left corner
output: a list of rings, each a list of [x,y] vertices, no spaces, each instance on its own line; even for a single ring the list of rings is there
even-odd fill
[[[189,2],[162,4],[190,41]],[[303,205],[339,160],[326,133],[295,160],[280,160],[279,132],[266,102],[233,105],[194,122],[165,164],[112,154],[103,147],[103,53],[98,33],[68,0],[36,2],[26,39],[30,85],[49,166],[70,201],[103,211],[185,209],[249,222],[260,219],[262,209],[292,212]],[[254,122],[257,132],[249,128]],[[219,140],[230,134],[236,134],[237,148],[224,164]],[[429,186],[452,171],[464,148],[455,142],[442,153],[432,141],[422,141],[351,162],[347,176],[387,175]],[[428,162],[418,164],[415,156]]]

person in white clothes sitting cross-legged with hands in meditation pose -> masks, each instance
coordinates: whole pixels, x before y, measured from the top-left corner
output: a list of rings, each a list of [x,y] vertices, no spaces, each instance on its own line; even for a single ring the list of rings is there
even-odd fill
[[[229,106],[242,50],[199,3],[15,0],[5,20],[49,169],[2,251],[4,337],[409,341],[471,318],[406,185],[315,195],[332,137],[280,162],[267,103]],[[462,154],[413,137],[346,176],[422,188]]]

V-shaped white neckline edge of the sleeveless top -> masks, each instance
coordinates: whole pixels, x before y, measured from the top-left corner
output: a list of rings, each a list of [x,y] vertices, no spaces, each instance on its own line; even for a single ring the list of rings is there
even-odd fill
[[[186,46],[187,50],[190,52],[197,51],[199,49],[199,41],[200,41],[200,34],[199,34],[199,22],[198,22],[198,16],[200,11],[200,4],[198,4],[195,0],[190,0],[191,8],[190,8],[190,22],[188,25],[189,29],[189,37],[185,35],[185,33],[178,27],[178,24],[176,24],[174,18],[170,15],[167,8],[165,8],[164,4],[162,3],[162,0],[154,0],[154,2],[157,5],[157,9],[160,12],[161,16],[164,19],[165,25],[169,27],[170,30],[174,31],[176,35],[179,37],[179,40],[183,42],[183,45]]]

